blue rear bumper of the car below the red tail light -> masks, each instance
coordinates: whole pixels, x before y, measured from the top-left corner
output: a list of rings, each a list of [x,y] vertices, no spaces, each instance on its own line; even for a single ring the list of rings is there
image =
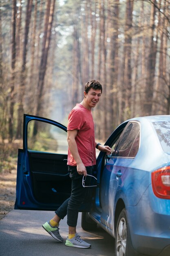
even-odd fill
[[[128,206],[127,212],[132,245],[137,252],[159,255],[170,245],[170,200],[153,196],[151,184],[139,203]]]

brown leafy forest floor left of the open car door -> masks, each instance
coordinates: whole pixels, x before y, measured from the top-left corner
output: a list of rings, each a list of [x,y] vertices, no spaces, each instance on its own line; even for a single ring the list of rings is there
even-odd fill
[[[9,168],[0,170],[0,220],[14,209],[16,195],[16,159]]]

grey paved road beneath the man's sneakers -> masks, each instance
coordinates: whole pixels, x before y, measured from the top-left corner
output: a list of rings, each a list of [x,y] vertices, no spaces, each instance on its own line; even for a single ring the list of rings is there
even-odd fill
[[[79,213],[77,233],[90,249],[79,249],[57,243],[43,228],[42,224],[53,217],[51,211],[12,210],[0,220],[0,256],[114,256],[114,238],[102,229],[86,232],[81,228]],[[60,234],[68,235],[66,218],[60,222]]]

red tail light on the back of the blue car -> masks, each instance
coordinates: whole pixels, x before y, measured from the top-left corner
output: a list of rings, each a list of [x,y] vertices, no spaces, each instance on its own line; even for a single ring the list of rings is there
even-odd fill
[[[170,166],[152,172],[152,189],[158,198],[170,199]]]

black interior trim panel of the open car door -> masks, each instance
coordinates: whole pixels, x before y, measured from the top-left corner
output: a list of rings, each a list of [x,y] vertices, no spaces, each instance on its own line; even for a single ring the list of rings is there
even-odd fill
[[[66,200],[71,193],[67,155],[29,152],[28,156],[35,199],[59,204]]]

